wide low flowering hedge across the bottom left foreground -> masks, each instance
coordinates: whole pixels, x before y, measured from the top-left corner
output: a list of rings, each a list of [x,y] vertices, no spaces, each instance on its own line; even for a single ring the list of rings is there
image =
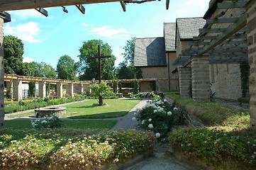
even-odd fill
[[[152,150],[135,130],[9,130],[0,133],[0,169],[99,169]]]

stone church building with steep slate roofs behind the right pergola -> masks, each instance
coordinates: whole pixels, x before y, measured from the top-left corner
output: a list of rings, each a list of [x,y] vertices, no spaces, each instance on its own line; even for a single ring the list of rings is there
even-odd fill
[[[164,23],[164,37],[135,40],[134,66],[140,67],[143,79],[157,79],[141,81],[140,91],[180,91],[183,97],[191,95],[191,65],[180,67],[175,60],[181,57],[182,51],[189,47],[205,24],[204,18],[177,18],[176,23]],[[184,72],[189,79],[185,86],[179,79]],[[215,98],[237,100],[242,96],[240,64],[210,63],[209,72]]]

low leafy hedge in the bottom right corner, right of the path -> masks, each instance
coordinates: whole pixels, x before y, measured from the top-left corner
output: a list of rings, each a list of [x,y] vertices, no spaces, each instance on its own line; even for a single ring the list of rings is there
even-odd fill
[[[174,148],[213,166],[223,166],[230,159],[234,166],[238,163],[256,166],[254,137],[216,128],[184,128],[172,131],[169,140]]]

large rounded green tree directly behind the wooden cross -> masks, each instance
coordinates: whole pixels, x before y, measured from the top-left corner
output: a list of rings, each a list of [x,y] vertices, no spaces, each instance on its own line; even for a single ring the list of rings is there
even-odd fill
[[[98,45],[101,47],[101,55],[112,55],[111,47],[102,40],[89,40],[84,42],[79,49],[79,62],[77,63],[79,71],[79,80],[91,80],[93,78],[99,79],[99,60],[87,59],[87,57],[98,56]],[[116,57],[112,55],[111,58],[101,59],[101,78],[113,79],[114,64]]]

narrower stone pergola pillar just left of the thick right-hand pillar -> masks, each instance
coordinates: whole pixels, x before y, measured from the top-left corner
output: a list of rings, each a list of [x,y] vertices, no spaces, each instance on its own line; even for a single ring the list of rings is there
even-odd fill
[[[179,67],[179,94],[183,98],[189,96],[191,84],[191,67]]]

